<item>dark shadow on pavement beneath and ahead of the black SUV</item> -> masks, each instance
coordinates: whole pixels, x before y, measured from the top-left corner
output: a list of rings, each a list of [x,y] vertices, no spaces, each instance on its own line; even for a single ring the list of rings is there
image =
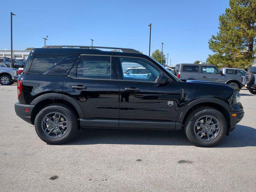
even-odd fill
[[[71,142],[64,145],[133,144],[133,145],[193,145],[184,131],[169,130],[120,130],[86,129],[78,130]],[[237,125],[216,148],[256,146],[256,129]]]

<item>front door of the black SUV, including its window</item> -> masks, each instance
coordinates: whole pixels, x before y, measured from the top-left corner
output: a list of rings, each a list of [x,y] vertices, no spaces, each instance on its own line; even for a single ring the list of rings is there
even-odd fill
[[[155,82],[160,68],[143,58],[116,57],[120,89],[120,128],[174,129],[180,86],[170,80]],[[143,69],[144,76],[127,75],[127,69]],[[143,72],[143,73],[144,73]]]

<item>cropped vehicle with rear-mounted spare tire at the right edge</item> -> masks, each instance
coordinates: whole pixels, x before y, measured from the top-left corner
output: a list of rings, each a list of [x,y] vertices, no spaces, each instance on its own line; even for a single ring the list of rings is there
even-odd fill
[[[244,76],[246,88],[252,94],[256,94],[256,66],[251,66],[248,73]]]

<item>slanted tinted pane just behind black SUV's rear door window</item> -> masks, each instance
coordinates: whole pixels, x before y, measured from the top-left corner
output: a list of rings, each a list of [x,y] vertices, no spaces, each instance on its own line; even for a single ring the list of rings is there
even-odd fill
[[[79,55],[69,55],[60,60],[54,66],[52,66],[44,74],[47,75],[68,75],[73,64],[76,62]]]

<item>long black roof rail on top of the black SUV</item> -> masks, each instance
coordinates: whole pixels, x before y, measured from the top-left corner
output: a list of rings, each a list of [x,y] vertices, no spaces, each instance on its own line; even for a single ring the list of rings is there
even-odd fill
[[[117,47],[97,47],[97,46],[76,46],[76,45],[46,45],[42,48],[80,48],[80,49],[90,49],[90,48],[100,48],[100,49],[114,49],[114,50],[122,50],[124,53],[137,53],[141,54],[140,52],[136,51],[135,49],[129,48],[117,48]]]

